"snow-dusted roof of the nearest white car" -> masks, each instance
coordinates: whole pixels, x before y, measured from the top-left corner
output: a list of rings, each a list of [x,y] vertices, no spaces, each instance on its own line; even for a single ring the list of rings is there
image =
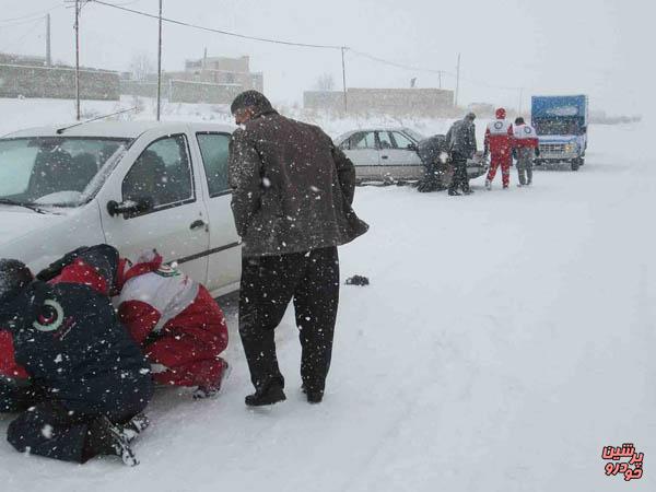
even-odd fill
[[[3,138],[20,137],[102,137],[136,139],[149,130],[161,130],[166,132],[179,131],[180,126],[190,127],[194,131],[221,131],[232,133],[236,127],[231,125],[190,122],[190,121],[94,121],[69,128],[61,134],[57,133],[60,128],[67,128],[74,124],[52,125],[47,127],[27,128],[3,136]]]

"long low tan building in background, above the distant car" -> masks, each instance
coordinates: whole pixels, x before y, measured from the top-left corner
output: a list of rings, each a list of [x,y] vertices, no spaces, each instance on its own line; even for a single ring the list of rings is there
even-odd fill
[[[390,116],[447,116],[453,113],[454,92],[444,89],[349,89],[349,113]],[[343,93],[308,91],[303,94],[306,109],[342,112]]]

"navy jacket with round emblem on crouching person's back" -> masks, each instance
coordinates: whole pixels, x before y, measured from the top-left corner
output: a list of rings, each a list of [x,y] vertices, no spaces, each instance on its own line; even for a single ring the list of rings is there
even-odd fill
[[[144,407],[152,395],[150,364],[109,297],[90,286],[35,281],[1,307],[0,323],[32,383],[69,410]]]

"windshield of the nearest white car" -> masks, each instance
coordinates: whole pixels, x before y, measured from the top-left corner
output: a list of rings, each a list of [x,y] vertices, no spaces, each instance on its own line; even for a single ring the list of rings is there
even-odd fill
[[[89,201],[129,139],[0,139],[0,202],[79,207]],[[103,172],[101,172],[103,171]]]

